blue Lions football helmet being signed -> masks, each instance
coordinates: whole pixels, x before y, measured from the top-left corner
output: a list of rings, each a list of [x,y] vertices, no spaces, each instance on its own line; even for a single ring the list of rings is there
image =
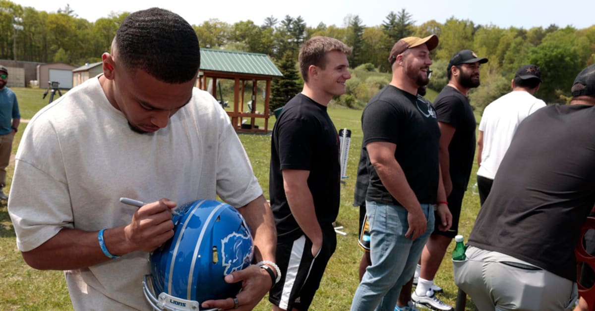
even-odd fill
[[[224,277],[252,262],[252,234],[245,219],[215,200],[190,202],[177,211],[174,237],[149,256],[146,299],[156,310],[202,310],[205,300],[235,297],[242,282],[228,284]]]

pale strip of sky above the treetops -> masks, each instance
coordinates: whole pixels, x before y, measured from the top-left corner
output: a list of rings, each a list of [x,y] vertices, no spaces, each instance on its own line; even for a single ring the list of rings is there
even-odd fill
[[[186,18],[190,24],[201,24],[209,18],[233,24],[236,21],[252,20],[262,24],[265,17],[273,15],[278,20],[289,14],[292,17],[301,15],[308,26],[316,26],[322,22],[327,26],[334,24],[343,26],[349,14],[359,15],[366,26],[380,25],[390,11],[398,12],[405,8],[415,21],[421,24],[428,20],[444,23],[452,16],[468,19],[475,24],[494,24],[499,27],[511,26],[547,27],[557,24],[560,27],[572,25],[578,29],[595,24],[593,12],[595,1],[553,1],[553,0],[12,0],[24,7],[34,7],[39,11],[55,12],[58,8],[70,4],[79,17],[89,21],[107,17],[110,12],[137,11],[149,7],[162,7],[174,11]],[[574,4],[574,5],[572,5]]]

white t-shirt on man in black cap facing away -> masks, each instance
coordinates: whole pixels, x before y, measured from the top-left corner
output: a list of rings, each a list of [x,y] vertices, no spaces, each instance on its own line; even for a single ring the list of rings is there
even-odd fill
[[[512,91],[494,100],[481,116],[483,151],[477,175],[494,179],[519,123],[546,103],[525,91]]]

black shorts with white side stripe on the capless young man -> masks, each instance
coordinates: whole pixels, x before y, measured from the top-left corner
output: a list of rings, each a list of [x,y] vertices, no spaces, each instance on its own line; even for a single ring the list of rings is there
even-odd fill
[[[271,288],[268,300],[284,310],[308,310],[336,247],[332,224],[322,228],[322,247],[316,257],[312,256],[312,241],[306,235],[293,241],[278,241],[275,256],[281,279]]]

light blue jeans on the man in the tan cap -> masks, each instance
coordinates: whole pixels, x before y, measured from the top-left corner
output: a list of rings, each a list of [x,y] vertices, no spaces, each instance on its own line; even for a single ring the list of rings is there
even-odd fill
[[[434,230],[434,205],[421,205],[428,227],[413,241],[405,237],[409,222],[403,206],[366,201],[366,209],[372,265],[366,269],[355,291],[351,311],[392,311],[401,287],[413,277],[425,242]]]

